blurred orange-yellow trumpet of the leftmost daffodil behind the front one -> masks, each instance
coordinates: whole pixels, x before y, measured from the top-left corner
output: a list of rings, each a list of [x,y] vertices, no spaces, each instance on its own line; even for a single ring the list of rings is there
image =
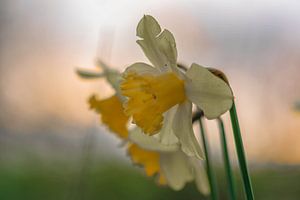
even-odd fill
[[[123,112],[122,102],[114,95],[104,100],[98,100],[96,96],[89,99],[90,108],[101,114],[102,122],[119,137],[128,137],[127,122],[128,116]]]

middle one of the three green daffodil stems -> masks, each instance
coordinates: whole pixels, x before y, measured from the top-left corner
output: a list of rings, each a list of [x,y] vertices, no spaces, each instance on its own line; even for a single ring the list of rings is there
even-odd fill
[[[226,134],[224,129],[224,123],[221,118],[218,118],[219,130],[220,130],[220,137],[221,137],[221,146],[223,150],[223,158],[225,164],[225,170],[227,175],[228,187],[229,187],[229,196],[231,200],[236,200],[236,193],[234,187],[234,179],[232,175],[232,169],[227,149],[227,141],[226,141]]]

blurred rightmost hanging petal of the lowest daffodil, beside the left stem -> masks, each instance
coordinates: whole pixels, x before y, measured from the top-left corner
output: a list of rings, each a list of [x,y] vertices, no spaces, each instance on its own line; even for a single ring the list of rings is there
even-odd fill
[[[193,166],[194,177],[197,189],[204,195],[210,193],[210,187],[208,182],[208,177],[206,169],[204,167],[204,162],[199,159],[190,158],[190,163]]]

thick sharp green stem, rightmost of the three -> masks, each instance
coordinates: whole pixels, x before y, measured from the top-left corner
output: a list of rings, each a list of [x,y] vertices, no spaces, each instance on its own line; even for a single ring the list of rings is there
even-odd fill
[[[242,135],[240,131],[239,121],[238,121],[234,102],[230,109],[230,118],[231,118],[231,125],[233,129],[234,140],[235,140],[236,152],[238,155],[240,170],[241,170],[244,188],[246,192],[246,197],[247,200],[253,200],[254,195],[251,186],[251,180],[248,173],[247,161],[246,161],[245,151],[243,147],[243,140],[242,140]]]

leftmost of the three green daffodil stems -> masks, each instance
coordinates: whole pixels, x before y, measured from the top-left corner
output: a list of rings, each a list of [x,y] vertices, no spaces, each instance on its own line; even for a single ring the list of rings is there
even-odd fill
[[[218,199],[218,188],[216,184],[216,178],[212,169],[211,165],[211,160],[209,157],[209,145],[207,142],[206,138],[206,133],[204,130],[203,122],[202,122],[202,117],[199,118],[199,124],[200,124],[200,133],[202,137],[202,142],[203,142],[203,148],[204,148],[204,153],[205,153],[205,161],[206,161],[206,170],[207,170],[207,176],[209,180],[209,185],[210,185],[210,190],[211,190],[211,199],[212,200],[217,200]]]

